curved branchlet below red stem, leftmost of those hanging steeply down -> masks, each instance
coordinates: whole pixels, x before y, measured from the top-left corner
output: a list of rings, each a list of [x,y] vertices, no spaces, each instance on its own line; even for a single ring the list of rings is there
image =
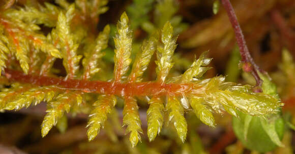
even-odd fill
[[[56,125],[57,121],[61,119],[64,112],[69,112],[71,106],[81,104],[82,97],[75,92],[63,93],[58,95],[54,101],[48,102],[47,114],[41,125],[42,136],[46,136],[49,130]]]

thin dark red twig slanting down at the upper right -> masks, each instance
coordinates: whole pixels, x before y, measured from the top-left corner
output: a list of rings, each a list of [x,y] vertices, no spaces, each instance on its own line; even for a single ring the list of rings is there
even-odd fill
[[[258,71],[263,72],[254,62],[253,58],[251,57],[248,47],[246,45],[246,41],[242,32],[242,29],[240,27],[240,24],[238,22],[237,16],[234,13],[234,10],[229,2],[229,0],[220,0],[224,9],[227,12],[229,21],[232,25],[232,28],[235,33],[235,39],[237,40],[239,49],[240,49],[240,54],[241,54],[241,61],[243,62],[243,68],[249,68],[250,69],[244,69],[244,71],[249,72],[251,71],[252,75],[254,76],[256,80],[256,86],[261,86],[262,85],[262,80],[260,79],[258,75]]]

